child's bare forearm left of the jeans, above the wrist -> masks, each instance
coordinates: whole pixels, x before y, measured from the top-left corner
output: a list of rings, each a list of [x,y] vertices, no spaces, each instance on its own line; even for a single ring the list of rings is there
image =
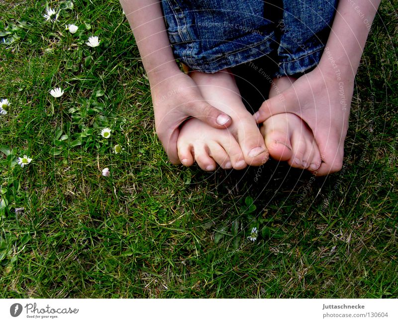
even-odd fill
[[[179,73],[159,0],[120,0],[151,85]]]

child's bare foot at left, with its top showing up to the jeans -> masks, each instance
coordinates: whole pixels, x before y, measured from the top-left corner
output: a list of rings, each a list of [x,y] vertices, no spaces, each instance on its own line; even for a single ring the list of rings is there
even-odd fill
[[[215,74],[191,72],[203,98],[232,118],[227,129],[215,129],[198,119],[181,128],[177,147],[185,166],[196,160],[203,170],[213,171],[215,162],[223,168],[259,166],[268,160],[264,139],[256,121],[242,103],[233,76],[227,70]]]

